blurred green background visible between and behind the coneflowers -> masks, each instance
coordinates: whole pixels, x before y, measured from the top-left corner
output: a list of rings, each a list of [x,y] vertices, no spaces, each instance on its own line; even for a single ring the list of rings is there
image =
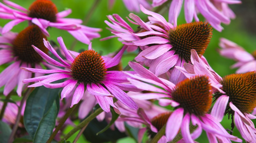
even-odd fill
[[[86,26],[101,28],[100,32],[101,38],[105,38],[107,36],[112,36],[111,32],[106,29],[108,27],[104,21],[108,20],[106,15],[111,15],[114,13],[119,14],[123,19],[128,17],[129,11],[125,8],[123,2],[121,0],[116,0],[116,3],[112,9],[108,8],[108,0],[99,0],[95,10],[93,11],[92,16],[88,19],[88,12],[90,12],[90,8],[94,5],[96,0],[52,0],[53,3],[57,6],[58,11],[63,11],[66,8],[71,8],[72,13],[68,16],[69,18],[78,18],[82,20],[88,20]],[[2,0],[1,0],[2,2]],[[33,0],[12,0],[12,2],[17,3],[25,8],[28,8]],[[224,37],[228,40],[234,41],[238,45],[244,47],[249,53],[252,53],[256,50],[256,2],[255,0],[247,0],[243,1],[244,3],[241,5],[231,5],[230,7],[236,13],[237,18],[231,20],[229,25],[224,25],[224,30],[222,32],[218,32],[213,30],[212,40],[206,49],[204,56],[206,57],[210,66],[220,75],[225,76],[227,74],[234,73],[236,69],[231,70],[230,66],[235,63],[235,61],[224,58],[220,56],[216,49],[218,48],[219,39]],[[167,8],[166,8],[167,9]],[[136,13],[142,20],[145,20],[147,16],[143,13]],[[164,14],[164,17],[167,19],[167,11]],[[203,20],[203,17],[199,15],[200,20]],[[126,19],[125,19],[126,20]],[[10,20],[0,20],[0,26],[4,26]],[[185,23],[183,9],[181,10],[181,14],[178,19],[178,24]],[[17,26],[14,26],[12,31],[20,32],[23,28],[27,26],[27,22],[23,22]],[[133,25],[133,28],[136,29],[136,26]],[[67,47],[71,47],[75,43],[75,39],[66,31],[59,30],[55,28],[49,29],[50,37],[48,40],[53,40],[57,42],[57,37],[61,36]],[[117,38],[100,41],[100,38],[92,40],[93,48],[100,52],[101,54],[109,54],[111,52],[119,49],[122,44],[117,40]],[[86,50],[88,45],[85,45],[81,42],[77,42],[75,44],[75,51]],[[124,58],[122,59],[123,66],[127,65],[129,60],[133,60],[136,56],[136,53],[125,53]],[[0,71],[6,68],[8,65],[3,65],[0,67]],[[1,88],[2,89],[2,88]],[[224,128],[230,129],[230,120],[224,119],[222,124]],[[68,130],[72,129],[69,127]],[[237,130],[234,130],[234,135],[240,136],[237,133]],[[69,141],[73,141],[75,135],[69,139]],[[197,141],[206,142],[206,135],[202,134]],[[83,143],[86,142],[85,137],[81,136],[78,142]],[[125,138],[117,141],[118,143],[125,142],[135,142],[132,138]]]

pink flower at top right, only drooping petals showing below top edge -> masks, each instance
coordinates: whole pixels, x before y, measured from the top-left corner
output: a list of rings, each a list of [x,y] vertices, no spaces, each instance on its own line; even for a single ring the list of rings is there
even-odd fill
[[[183,0],[173,0],[169,9],[169,22],[177,25],[177,18],[181,12]],[[187,23],[191,23],[193,18],[199,21],[198,13],[208,21],[212,27],[222,31],[221,23],[229,24],[230,18],[235,18],[234,12],[228,4],[240,4],[240,0],[185,0],[184,13]]]

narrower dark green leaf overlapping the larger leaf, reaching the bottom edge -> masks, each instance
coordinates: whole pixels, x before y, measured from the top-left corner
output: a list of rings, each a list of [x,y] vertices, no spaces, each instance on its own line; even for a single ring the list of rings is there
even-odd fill
[[[56,102],[54,101],[52,107],[40,121],[39,126],[35,132],[33,143],[45,143],[49,139],[55,127],[57,114],[58,108]]]

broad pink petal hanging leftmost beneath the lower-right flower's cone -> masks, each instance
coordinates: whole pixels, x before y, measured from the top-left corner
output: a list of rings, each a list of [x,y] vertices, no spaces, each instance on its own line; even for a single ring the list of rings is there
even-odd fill
[[[172,141],[174,137],[178,134],[183,120],[183,113],[184,109],[178,108],[171,114],[171,116],[167,120],[165,135],[168,141]]]

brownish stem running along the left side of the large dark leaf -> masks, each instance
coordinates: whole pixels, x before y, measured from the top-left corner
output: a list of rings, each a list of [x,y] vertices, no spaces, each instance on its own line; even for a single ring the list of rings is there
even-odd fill
[[[33,90],[34,90],[34,87],[28,88],[27,91],[25,92],[23,98],[21,99],[18,114],[17,114],[17,117],[16,117],[16,121],[15,121],[15,124],[12,128],[11,135],[10,135],[8,143],[12,143],[13,140],[14,140],[14,135],[15,135],[17,129],[18,129],[19,121],[20,121],[20,118],[21,118],[21,110],[23,108],[23,105],[24,105],[25,101],[27,100],[27,98],[29,97],[30,93]]]

